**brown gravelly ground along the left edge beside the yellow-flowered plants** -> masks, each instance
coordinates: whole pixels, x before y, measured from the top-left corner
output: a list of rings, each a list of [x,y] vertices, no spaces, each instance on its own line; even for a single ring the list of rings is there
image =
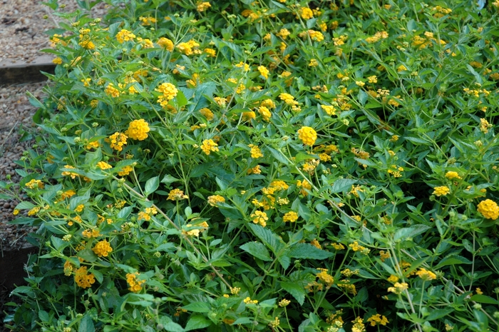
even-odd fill
[[[7,62],[31,64],[39,56],[46,56],[39,51],[50,47],[45,31],[59,26],[63,21],[59,14],[78,9],[74,0],[58,0],[56,12],[41,2],[0,0],[0,68]],[[101,3],[93,7],[91,16],[103,18],[105,13],[106,4]],[[29,137],[26,133],[36,133],[32,121],[36,108],[29,103],[26,92],[42,100],[46,84],[48,81],[5,85],[0,81],[0,181],[19,183],[21,180],[16,173],[16,169],[20,168],[16,161],[34,145],[33,139],[26,139]],[[19,186],[14,186],[14,190],[19,193]],[[3,320],[4,311],[9,311],[11,307],[4,304],[11,301],[19,303],[19,299],[9,295],[14,284],[19,286],[23,282],[24,263],[28,254],[36,249],[30,248],[25,236],[38,231],[38,228],[9,223],[16,218],[13,213],[17,203],[14,199],[0,199],[0,331],[10,331],[4,330]]]

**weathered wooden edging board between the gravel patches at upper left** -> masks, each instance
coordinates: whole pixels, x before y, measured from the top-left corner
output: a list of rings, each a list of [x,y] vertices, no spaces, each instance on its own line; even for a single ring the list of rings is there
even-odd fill
[[[25,61],[0,60],[0,85],[20,84],[46,81],[47,77],[40,71],[53,74],[56,65],[52,62],[53,56],[38,56],[29,63]]]

